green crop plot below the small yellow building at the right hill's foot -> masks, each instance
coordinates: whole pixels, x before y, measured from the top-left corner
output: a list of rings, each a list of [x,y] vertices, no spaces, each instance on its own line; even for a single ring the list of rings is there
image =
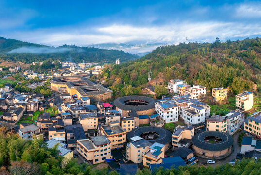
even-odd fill
[[[209,105],[211,107],[210,116],[213,114],[226,115],[229,111],[236,109],[236,98],[228,97],[229,104],[225,105]]]

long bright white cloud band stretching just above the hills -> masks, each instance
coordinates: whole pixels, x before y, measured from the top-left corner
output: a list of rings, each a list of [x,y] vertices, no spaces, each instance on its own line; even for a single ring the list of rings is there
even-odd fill
[[[77,27],[76,27],[77,28]],[[183,22],[170,23],[164,26],[140,27],[132,25],[108,25],[104,27],[76,29],[43,29],[27,33],[13,33],[9,37],[23,41],[60,46],[75,44],[88,46],[100,43],[168,43],[185,42],[213,42],[220,39],[249,37],[261,35],[261,24],[247,24],[240,22]],[[138,46],[139,47],[139,46]],[[153,47],[155,48],[155,47]],[[121,48],[118,48],[121,49]],[[135,53],[140,50],[148,51],[146,47],[124,48],[125,51]],[[152,48],[151,48],[152,49]]]

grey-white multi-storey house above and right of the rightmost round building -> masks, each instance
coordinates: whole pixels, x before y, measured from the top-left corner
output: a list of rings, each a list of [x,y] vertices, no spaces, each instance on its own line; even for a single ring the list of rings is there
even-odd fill
[[[240,126],[244,124],[244,113],[240,113],[237,111],[230,111],[226,114],[225,118],[227,118],[227,134],[233,135],[237,130],[240,129]]]

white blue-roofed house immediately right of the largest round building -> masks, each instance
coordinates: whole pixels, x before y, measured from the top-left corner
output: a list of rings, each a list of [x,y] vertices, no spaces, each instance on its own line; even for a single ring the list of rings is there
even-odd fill
[[[164,123],[178,121],[178,106],[173,100],[159,100],[155,103],[155,111]]]

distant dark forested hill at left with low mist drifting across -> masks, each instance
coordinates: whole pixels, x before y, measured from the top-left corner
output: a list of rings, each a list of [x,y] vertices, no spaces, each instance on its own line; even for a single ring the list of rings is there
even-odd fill
[[[48,58],[74,62],[82,62],[83,60],[85,62],[115,62],[116,58],[120,58],[120,61],[124,62],[136,59],[138,56],[118,50],[75,45],[63,45],[55,48],[0,37],[0,59],[31,63]]]

